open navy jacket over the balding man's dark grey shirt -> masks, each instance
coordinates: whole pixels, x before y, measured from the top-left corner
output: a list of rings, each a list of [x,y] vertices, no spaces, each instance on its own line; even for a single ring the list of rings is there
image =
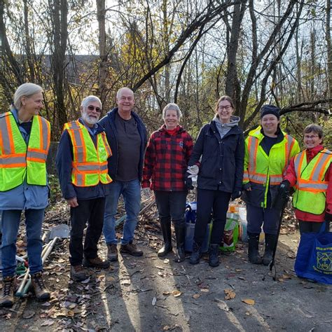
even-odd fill
[[[107,112],[106,116],[99,120],[99,124],[102,125],[106,132],[107,141],[109,141],[109,146],[111,146],[112,155],[109,158],[109,176],[111,179],[116,180],[116,174],[118,171],[118,141],[116,140],[116,113],[118,113],[118,107]],[[147,134],[146,127],[134,111],[132,111],[132,117],[137,123],[137,129],[139,131],[139,136],[141,137],[141,146],[139,150],[139,174],[137,178],[141,181],[142,172],[143,172],[143,162],[144,162],[144,152],[147,144]]]

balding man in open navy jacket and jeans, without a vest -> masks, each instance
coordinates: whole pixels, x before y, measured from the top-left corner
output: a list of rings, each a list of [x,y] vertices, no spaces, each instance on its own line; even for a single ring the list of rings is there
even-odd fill
[[[146,148],[146,127],[134,111],[134,92],[120,88],[116,94],[118,107],[109,111],[99,124],[106,132],[111,147],[109,158],[109,184],[111,193],[106,197],[103,233],[107,244],[109,261],[118,260],[115,216],[118,199],[123,195],[125,213],[120,252],[141,256],[143,252],[132,243],[134,230],[141,209],[141,177]]]

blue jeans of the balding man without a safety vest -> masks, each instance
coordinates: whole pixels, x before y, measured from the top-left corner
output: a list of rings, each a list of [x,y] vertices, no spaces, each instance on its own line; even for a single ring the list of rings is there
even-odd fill
[[[134,238],[134,230],[141,209],[141,186],[139,180],[113,181],[110,186],[110,194],[106,196],[103,233],[106,244],[117,244],[116,239],[116,212],[118,200],[123,195],[125,201],[125,213],[127,214],[123,225],[121,244],[127,244]]]

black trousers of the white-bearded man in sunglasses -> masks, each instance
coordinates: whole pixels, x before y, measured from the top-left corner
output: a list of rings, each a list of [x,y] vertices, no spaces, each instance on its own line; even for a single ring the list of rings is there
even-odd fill
[[[85,234],[84,256],[97,257],[97,243],[102,234],[104,223],[105,198],[78,200],[78,207],[70,208],[69,261],[71,265],[81,265],[83,261],[83,231],[88,221]]]

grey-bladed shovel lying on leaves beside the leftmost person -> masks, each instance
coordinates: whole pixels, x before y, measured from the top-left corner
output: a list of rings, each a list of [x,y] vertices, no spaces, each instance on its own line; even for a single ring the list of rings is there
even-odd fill
[[[50,233],[48,233],[49,242],[41,252],[42,263],[45,263],[46,259],[48,258],[48,255],[50,254],[50,251],[52,251],[53,247],[55,246],[55,242],[57,242],[58,239],[67,239],[68,237],[69,237],[68,225],[62,223],[60,225],[53,227],[50,230]],[[27,293],[27,291],[29,290],[30,285],[31,285],[31,278],[28,269],[27,272],[25,273],[25,276],[22,278],[20,286],[18,287],[18,291],[16,291],[15,295],[20,297],[24,296],[25,293]]]

